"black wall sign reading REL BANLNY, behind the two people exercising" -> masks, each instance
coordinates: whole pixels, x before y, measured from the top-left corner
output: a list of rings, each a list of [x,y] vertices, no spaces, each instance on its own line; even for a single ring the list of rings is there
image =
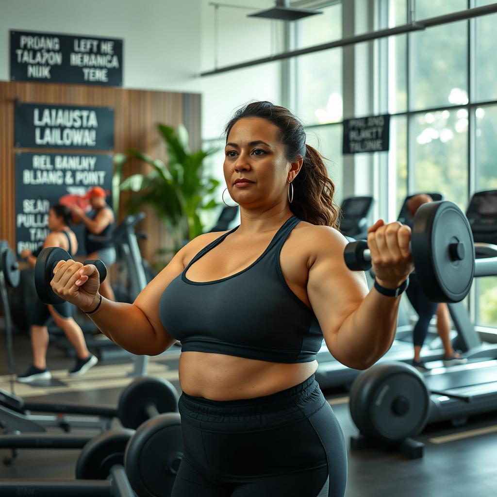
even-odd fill
[[[33,154],[15,155],[16,250],[35,250],[47,237],[48,211],[64,195],[84,195],[88,188],[112,189],[110,155]],[[112,198],[111,195],[107,199]],[[78,253],[84,254],[83,225],[71,226],[78,237]]]

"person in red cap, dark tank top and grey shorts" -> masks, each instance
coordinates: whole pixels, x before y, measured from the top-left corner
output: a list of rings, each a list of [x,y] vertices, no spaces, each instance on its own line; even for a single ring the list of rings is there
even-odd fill
[[[107,193],[101,186],[90,188],[83,198],[89,199],[91,211],[84,214],[78,206],[71,209],[76,223],[83,223],[86,227],[84,243],[86,253],[85,259],[100,259],[107,269],[116,261],[116,249],[111,241],[95,240],[91,235],[109,238],[114,230],[115,216],[112,208],[105,201]],[[100,285],[101,294],[109,300],[115,301],[114,292],[110,286],[109,279],[102,281]]]

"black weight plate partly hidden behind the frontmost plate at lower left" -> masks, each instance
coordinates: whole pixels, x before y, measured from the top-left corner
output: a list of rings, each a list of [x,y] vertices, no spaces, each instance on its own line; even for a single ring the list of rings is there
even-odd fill
[[[124,465],[124,451],[133,430],[104,431],[90,440],[76,463],[76,478],[106,480],[115,464]]]

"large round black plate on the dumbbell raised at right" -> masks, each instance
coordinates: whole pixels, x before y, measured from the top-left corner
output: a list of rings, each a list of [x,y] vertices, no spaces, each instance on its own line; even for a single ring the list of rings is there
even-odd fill
[[[430,202],[414,217],[411,247],[415,272],[432,302],[460,302],[475,274],[475,248],[468,219],[452,202]]]

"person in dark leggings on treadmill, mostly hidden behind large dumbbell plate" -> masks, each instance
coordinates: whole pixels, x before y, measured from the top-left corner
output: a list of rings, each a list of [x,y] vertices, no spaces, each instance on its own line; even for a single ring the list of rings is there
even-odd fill
[[[408,201],[409,214],[414,219],[417,209],[427,202],[433,202],[433,199],[425,193],[412,196]],[[431,318],[436,314],[436,327],[438,335],[442,340],[444,348],[443,362],[446,366],[453,364],[465,363],[466,359],[461,359],[459,352],[452,348],[450,341],[450,316],[447,304],[436,304],[430,302],[424,295],[419,280],[415,273],[409,277],[409,287],[406,294],[419,316],[413,330],[413,343],[414,343],[414,359],[413,366],[416,368],[424,369],[424,363],[421,360],[421,348],[428,333],[428,327]]]

